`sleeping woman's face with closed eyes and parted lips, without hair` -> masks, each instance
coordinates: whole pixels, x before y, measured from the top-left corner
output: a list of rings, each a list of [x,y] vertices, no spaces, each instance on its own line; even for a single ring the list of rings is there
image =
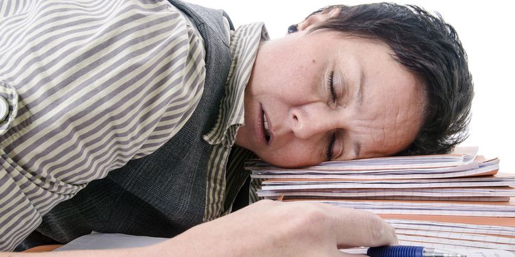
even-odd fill
[[[392,54],[378,40],[339,32],[266,42],[245,89],[236,144],[282,167],[404,149],[422,125],[425,95]]]

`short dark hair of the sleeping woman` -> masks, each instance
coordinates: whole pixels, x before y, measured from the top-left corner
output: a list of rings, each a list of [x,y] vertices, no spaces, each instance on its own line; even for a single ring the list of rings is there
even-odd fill
[[[393,50],[393,58],[423,79],[424,123],[413,143],[397,155],[446,154],[463,142],[474,89],[455,29],[440,14],[433,16],[415,5],[331,5],[312,14],[333,8],[341,8],[340,14],[310,32],[329,29],[381,40]]]

